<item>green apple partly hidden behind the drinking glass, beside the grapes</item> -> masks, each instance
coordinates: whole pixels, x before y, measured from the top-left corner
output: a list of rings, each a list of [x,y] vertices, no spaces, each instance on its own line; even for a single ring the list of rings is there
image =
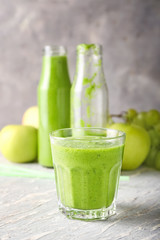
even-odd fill
[[[150,150],[150,137],[147,131],[142,127],[125,123],[115,123],[110,128],[126,133],[122,169],[133,170],[138,168]]]

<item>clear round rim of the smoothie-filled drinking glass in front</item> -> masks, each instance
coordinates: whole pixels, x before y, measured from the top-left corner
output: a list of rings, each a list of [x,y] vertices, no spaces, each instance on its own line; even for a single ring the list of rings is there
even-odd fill
[[[115,137],[104,137],[104,136],[98,136],[97,137],[101,137],[100,139],[97,139],[96,137],[94,138],[93,136],[93,139],[87,139],[86,136],[82,136],[82,137],[74,137],[74,141],[90,141],[90,142],[94,142],[94,141],[108,141],[108,140],[117,140],[117,139],[123,139],[125,138],[126,134],[125,132],[122,132],[120,130],[117,130],[117,129],[112,129],[112,128],[100,128],[100,127],[84,127],[84,128],[62,128],[62,129],[58,129],[58,130],[55,130],[55,131],[52,131],[49,133],[49,136],[51,139],[55,139],[55,140],[67,140],[67,141],[73,141],[73,138],[69,138],[69,137],[57,137],[55,136],[55,133],[58,133],[60,131],[69,131],[69,130],[101,130],[101,131],[112,131],[112,132],[117,132],[119,133],[120,135],[119,136],[115,136]]]

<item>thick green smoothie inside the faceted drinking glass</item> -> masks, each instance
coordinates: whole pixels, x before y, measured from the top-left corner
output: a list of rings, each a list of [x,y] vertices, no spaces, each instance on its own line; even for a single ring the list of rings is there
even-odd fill
[[[76,148],[73,142],[71,146],[52,145],[60,201],[83,210],[109,207],[118,187],[124,146]]]

